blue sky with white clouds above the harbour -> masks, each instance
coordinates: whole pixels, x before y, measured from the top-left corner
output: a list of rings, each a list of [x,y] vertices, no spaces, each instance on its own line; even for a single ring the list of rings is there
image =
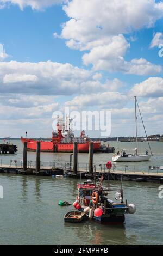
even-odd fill
[[[65,106],[134,136],[134,96],[163,134],[162,25],[163,1],[0,0],[0,137],[49,137]]]

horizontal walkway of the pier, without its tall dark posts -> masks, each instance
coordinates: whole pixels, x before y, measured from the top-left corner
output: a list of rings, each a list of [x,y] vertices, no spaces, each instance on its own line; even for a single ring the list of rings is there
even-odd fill
[[[151,172],[150,170],[146,172],[138,172],[138,171],[131,171],[131,170],[108,170],[108,169],[96,169],[96,164],[94,168],[96,172],[93,172],[91,175],[89,170],[86,168],[82,168],[84,164],[78,169],[78,173],[74,173],[73,170],[70,168],[72,163],[63,162],[42,162],[40,166],[40,171],[36,171],[36,166],[34,162],[28,163],[28,168],[26,171],[23,170],[23,164],[0,164],[0,173],[10,173],[10,174],[23,174],[23,175],[40,175],[40,176],[52,176],[52,175],[67,175],[70,178],[91,178],[93,179],[95,176],[96,178],[101,177],[104,175],[105,179],[110,180],[126,180],[126,181],[136,181],[136,182],[154,182],[154,183],[163,183],[163,172]],[[73,166],[73,164],[72,164]],[[79,165],[80,166],[80,165]],[[98,164],[99,166],[99,164]]]

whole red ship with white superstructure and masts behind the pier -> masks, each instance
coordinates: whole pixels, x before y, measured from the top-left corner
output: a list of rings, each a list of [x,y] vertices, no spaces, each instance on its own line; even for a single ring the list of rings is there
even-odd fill
[[[62,118],[58,118],[57,121],[57,131],[53,131],[51,141],[40,141],[41,152],[73,152],[73,143],[78,143],[78,152],[79,153],[88,153],[89,152],[89,143],[91,139],[85,136],[85,131],[80,133],[80,137],[74,137],[73,131],[70,129],[70,123],[72,119],[66,119],[66,125],[63,123]],[[37,140],[28,139],[21,137],[22,143],[27,142],[27,151],[36,151]],[[101,143],[93,142],[94,152],[99,151]]]

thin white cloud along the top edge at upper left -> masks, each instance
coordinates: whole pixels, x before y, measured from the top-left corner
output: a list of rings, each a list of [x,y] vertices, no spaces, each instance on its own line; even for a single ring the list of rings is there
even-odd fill
[[[66,0],[0,0],[2,8],[5,7],[5,4],[17,4],[20,9],[23,9],[27,6],[30,6],[32,9],[43,9],[50,7],[55,4],[62,4],[67,2]]]

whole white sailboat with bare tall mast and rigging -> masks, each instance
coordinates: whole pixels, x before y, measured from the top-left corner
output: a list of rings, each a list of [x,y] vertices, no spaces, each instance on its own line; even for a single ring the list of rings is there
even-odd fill
[[[146,138],[147,138],[147,142],[148,142],[148,145],[149,145],[149,149],[150,149],[150,151],[151,151],[151,154],[148,155],[148,152],[147,152],[146,154],[138,154],[138,149],[137,149],[137,113],[136,113],[136,104],[137,104],[137,107],[138,107],[139,113],[140,113],[140,108],[139,108],[139,105],[138,105],[138,103],[137,103],[137,99],[136,99],[136,96],[135,96],[136,148],[135,148],[135,149],[131,149],[131,150],[123,150],[123,153],[122,153],[122,154],[117,154],[117,155],[113,156],[113,157],[112,157],[112,161],[113,161],[113,162],[138,162],[138,161],[149,161],[149,159],[150,159],[151,156],[152,156],[151,147],[150,147],[149,142],[148,142],[148,137],[147,137],[145,125],[144,125],[143,120],[142,120],[141,113],[140,113],[140,116],[141,116],[141,120],[142,120],[143,127],[144,127],[144,129],[145,129]],[[126,151],[133,151],[133,152],[131,152],[131,153],[129,153],[129,154],[126,154]]]

